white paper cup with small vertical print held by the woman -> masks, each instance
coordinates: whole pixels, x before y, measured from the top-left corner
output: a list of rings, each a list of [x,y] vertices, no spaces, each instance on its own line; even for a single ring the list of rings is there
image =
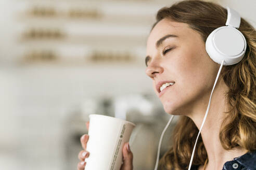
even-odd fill
[[[126,120],[104,116],[89,115],[89,139],[86,150],[85,170],[120,170],[122,148],[129,141],[135,127]]]

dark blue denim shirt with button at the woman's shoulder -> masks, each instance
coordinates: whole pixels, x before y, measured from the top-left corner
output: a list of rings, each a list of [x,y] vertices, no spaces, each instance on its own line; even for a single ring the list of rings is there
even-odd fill
[[[222,170],[256,170],[256,151],[247,152],[224,164]]]

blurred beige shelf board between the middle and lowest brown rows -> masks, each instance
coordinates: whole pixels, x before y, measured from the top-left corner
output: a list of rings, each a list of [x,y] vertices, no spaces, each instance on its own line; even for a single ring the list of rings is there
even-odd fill
[[[112,37],[112,36],[73,36],[66,38],[23,38],[18,39],[20,47],[59,47],[59,46],[84,46],[89,48],[99,49],[134,49],[137,47],[146,46],[146,36],[127,36],[127,37]],[[145,46],[144,46],[145,45]],[[67,47],[68,48],[68,47]],[[146,49],[146,48],[144,48]]]

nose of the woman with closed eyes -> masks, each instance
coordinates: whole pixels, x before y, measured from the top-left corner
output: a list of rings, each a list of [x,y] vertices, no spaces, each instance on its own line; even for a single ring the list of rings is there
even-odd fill
[[[151,78],[154,79],[158,74],[163,73],[163,67],[160,66],[160,62],[158,59],[152,59],[147,68],[146,68],[146,74]]]

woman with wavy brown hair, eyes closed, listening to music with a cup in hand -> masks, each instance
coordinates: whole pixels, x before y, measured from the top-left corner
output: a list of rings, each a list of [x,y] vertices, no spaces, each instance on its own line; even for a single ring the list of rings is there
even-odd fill
[[[147,41],[146,74],[164,110],[180,115],[171,149],[160,160],[159,169],[187,169],[217,71],[205,48],[208,35],[224,26],[227,10],[217,4],[183,1],[158,11]],[[239,31],[245,36],[244,58],[223,66],[212,95],[211,107],[201,131],[193,169],[256,169],[256,34],[241,18]],[[160,93],[157,84],[174,83]],[[88,124],[87,124],[88,126]],[[81,137],[86,150],[88,135]],[[133,169],[133,153],[123,146],[122,170]],[[79,153],[78,169],[85,166]]]

